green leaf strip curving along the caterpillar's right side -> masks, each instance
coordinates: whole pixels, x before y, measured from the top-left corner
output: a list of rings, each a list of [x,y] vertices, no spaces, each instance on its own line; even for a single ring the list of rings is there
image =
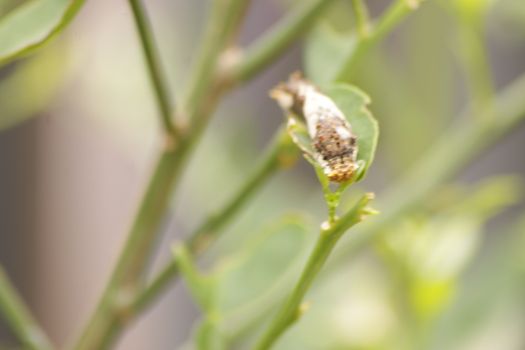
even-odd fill
[[[357,136],[357,160],[363,165],[359,169],[356,181],[363,179],[374,160],[379,138],[377,121],[367,108],[370,98],[358,88],[348,84],[336,84],[325,93],[330,96],[344,113]]]

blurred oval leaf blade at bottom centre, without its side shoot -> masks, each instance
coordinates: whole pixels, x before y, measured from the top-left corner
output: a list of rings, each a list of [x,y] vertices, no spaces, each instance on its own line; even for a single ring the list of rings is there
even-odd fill
[[[307,225],[287,215],[227,259],[218,275],[217,310],[229,333],[252,324],[280,300],[307,248]]]

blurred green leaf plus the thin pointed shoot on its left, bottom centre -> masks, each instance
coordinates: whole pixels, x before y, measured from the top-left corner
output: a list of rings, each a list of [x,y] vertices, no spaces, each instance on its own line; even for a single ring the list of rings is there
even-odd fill
[[[250,235],[241,249],[223,256],[204,275],[192,266],[183,247],[175,247],[175,259],[204,313],[197,330],[199,348],[228,348],[232,337],[256,326],[261,315],[276,306],[303,260],[307,227],[298,216],[277,220]]]

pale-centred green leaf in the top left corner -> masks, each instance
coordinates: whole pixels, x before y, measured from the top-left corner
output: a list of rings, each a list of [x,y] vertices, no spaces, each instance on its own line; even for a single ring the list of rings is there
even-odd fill
[[[84,0],[34,0],[0,19],[0,64],[28,54],[59,33]]]

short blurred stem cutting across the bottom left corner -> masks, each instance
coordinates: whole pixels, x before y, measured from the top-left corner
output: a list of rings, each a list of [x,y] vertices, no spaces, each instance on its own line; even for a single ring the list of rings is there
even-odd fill
[[[30,311],[12,286],[7,274],[0,266],[0,310],[24,349],[53,349],[44,331],[37,324]]]

